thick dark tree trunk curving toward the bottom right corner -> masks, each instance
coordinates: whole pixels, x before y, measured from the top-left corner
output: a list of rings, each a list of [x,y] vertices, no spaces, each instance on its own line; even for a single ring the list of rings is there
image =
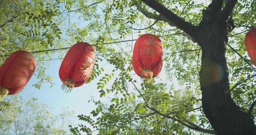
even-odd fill
[[[227,24],[214,21],[200,26],[202,61],[200,87],[204,114],[217,135],[256,135],[251,116],[234,103],[229,90],[225,58]]]

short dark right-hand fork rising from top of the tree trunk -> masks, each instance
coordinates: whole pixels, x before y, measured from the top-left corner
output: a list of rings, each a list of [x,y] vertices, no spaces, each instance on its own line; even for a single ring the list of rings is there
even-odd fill
[[[220,19],[221,20],[228,20],[228,16],[232,13],[233,8],[235,7],[237,0],[225,0],[226,5],[222,11],[220,11]]]

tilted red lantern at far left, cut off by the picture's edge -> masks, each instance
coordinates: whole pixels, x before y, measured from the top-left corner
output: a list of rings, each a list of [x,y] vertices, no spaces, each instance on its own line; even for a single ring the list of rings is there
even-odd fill
[[[36,59],[26,51],[12,53],[0,67],[0,97],[20,92],[36,70]]]

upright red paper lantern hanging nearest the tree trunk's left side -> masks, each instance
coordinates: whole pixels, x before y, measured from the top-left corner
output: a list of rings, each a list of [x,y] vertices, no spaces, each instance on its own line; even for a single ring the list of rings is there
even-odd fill
[[[152,34],[140,36],[134,46],[132,67],[146,82],[155,78],[163,66],[163,46],[161,40]]]

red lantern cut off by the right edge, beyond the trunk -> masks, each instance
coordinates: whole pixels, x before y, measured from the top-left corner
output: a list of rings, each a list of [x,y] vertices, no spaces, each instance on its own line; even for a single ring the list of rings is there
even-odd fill
[[[245,47],[252,63],[256,66],[256,28],[251,29],[245,36]]]

